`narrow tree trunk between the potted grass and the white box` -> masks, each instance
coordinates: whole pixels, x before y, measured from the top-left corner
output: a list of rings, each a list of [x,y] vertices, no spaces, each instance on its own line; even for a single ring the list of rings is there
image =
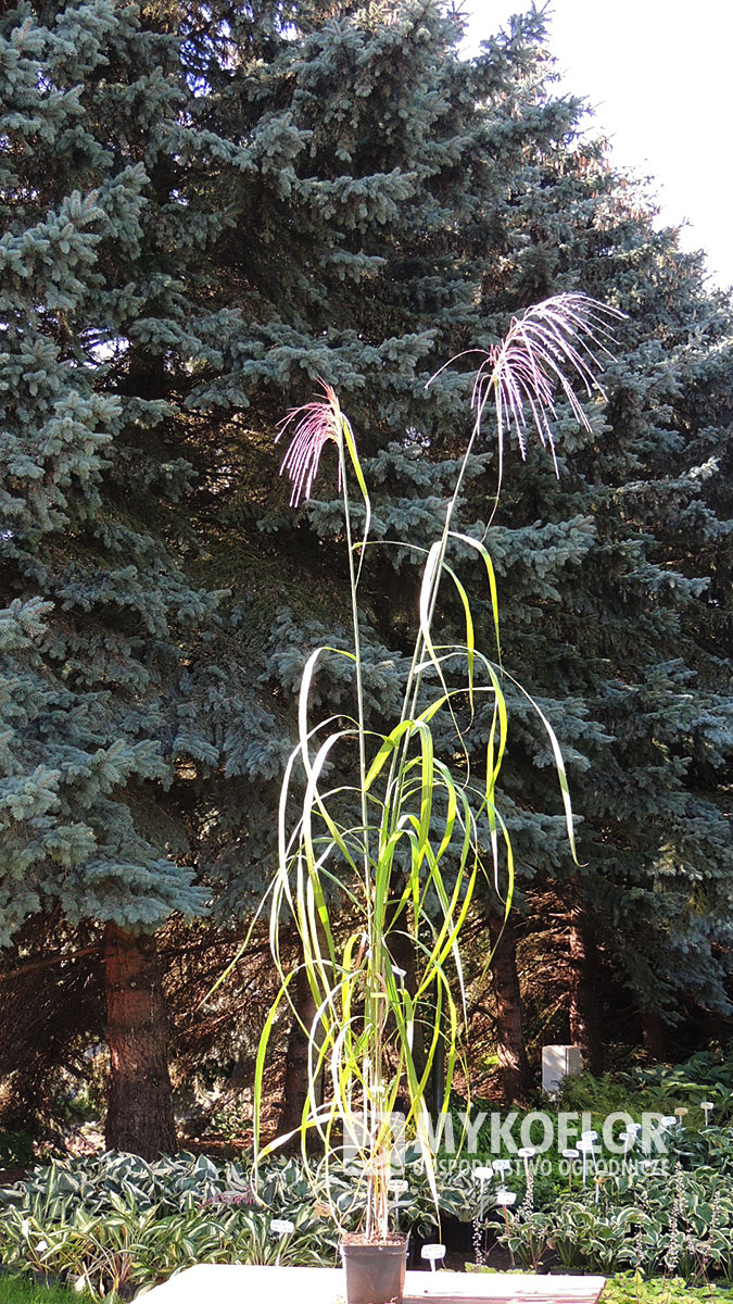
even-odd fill
[[[511,919],[489,914],[489,935],[494,957],[492,978],[497,1003],[496,1038],[503,1094],[507,1103],[524,1103],[532,1084],[524,1031],[522,995],[516,971],[516,939]]]

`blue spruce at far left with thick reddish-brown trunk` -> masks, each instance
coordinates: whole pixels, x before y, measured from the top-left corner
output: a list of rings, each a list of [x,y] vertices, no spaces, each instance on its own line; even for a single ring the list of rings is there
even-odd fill
[[[187,78],[157,16],[22,4],[0,27],[0,922],[104,928],[107,1137],[143,1154],[175,1146],[153,930],[205,900],[175,781],[215,608],[181,566],[211,214],[176,192]]]

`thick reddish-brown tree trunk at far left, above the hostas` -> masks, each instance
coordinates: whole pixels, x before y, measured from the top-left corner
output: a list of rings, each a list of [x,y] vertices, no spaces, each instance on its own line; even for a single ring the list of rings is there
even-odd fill
[[[108,923],[104,969],[110,1047],[107,1149],[129,1150],[143,1159],[173,1154],[168,1018],[155,939]]]

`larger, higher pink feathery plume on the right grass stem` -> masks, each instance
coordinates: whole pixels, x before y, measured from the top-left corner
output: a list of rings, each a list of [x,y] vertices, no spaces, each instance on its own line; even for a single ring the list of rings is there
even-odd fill
[[[514,428],[522,456],[527,455],[527,428],[532,425],[543,446],[549,445],[557,472],[550,416],[556,417],[554,396],[560,390],[575,420],[586,430],[588,417],[573,387],[580,382],[588,398],[605,398],[597,381],[603,357],[610,357],[604,339],[610,339],[608,322],[625,314],[580,293],[554,295],[513,317],[501,344],[486,353],[473,382],[472,407],[480,422],[489,394],[494,393],[500,458],[505,432]]]

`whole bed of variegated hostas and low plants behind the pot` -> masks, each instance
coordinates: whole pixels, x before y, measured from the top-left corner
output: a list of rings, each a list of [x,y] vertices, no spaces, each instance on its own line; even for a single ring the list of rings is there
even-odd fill
[[[695,1138],[708,1148],[694,1154]],[[680,1129],[665,1172],[643,1168],[593,1180],[553,1170],[524,1178],[523,1164],[501,1176],[514,1205],[497,1205],[500,1180],[484,1191],[458,1157],[438,1163],[443,1224],[479,1226],[477,1247],[509,1249],[523,1270],[549,1266],[620,1278],[625,1291],[642,1278],[680,1278],[695,1290],[733,1282],[733,1138],[729,1128]],[[417,1161],[419,1151],[407,1153]],[[518,1171],[519,1170],[519,1171]],[[325,1184],[323,1184],[325,1194]],[[333,1166],[331,1201],[342,1223],[356,1227],[364,1211],[351,1175]],[[337,1261],[338,1234],[325,1200],[313,1198],[313,1172],[297,1158],[271,1157],[260,1170],[254,1202],[252,1157],[214,1163],[179,1155],[146,1163],[110,1154],[34,1170],[0,1193],[0,1262],[12,1273],[47,1274],[100,1299],[133,1292],[196,1262],[323,1264]],[[273,1223],[287,1219],[280,1237]],[[408,1163],[408,1191],[394,1210],[407,1235],[428,1236],[433,1196],[419,1162]],[[636,1275],[638,1274],[638,1278]],[[674,1287],[672,1299],[678,1297]],[[652,1296],[642,1295],[642,1304]],[[698,1296],[691,1296],[698,1297]]]

